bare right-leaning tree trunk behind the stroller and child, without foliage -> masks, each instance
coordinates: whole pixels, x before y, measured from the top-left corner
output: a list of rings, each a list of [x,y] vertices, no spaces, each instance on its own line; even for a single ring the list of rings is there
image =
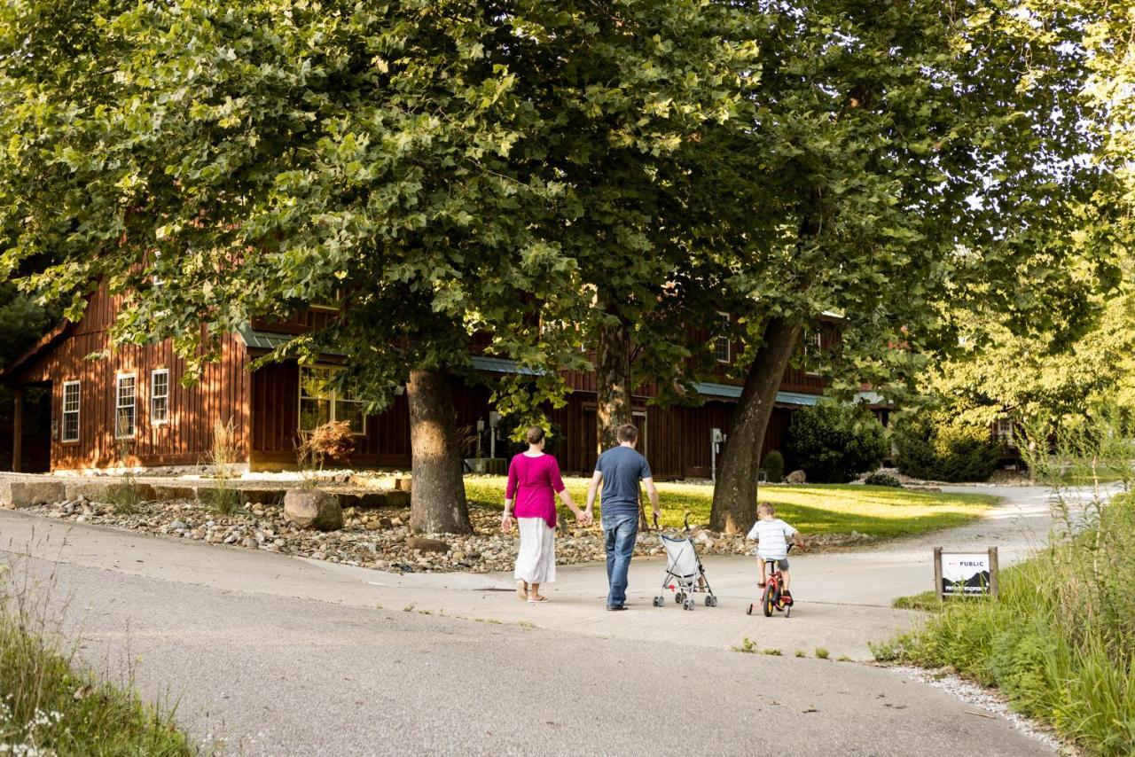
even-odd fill
[[[764,344],[745,377],[741,399],[717,468],[711,528],[742,533],[757,520],[757,465],[768,419],[784,369],[800,340],[800,322],[774,318],[765,326]]]

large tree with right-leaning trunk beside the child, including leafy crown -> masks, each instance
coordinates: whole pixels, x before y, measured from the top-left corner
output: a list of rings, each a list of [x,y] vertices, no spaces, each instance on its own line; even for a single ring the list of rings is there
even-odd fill
[[[1044,328],[1098,274],[1062,233],[1096,213],[1076,23],[1014,0],[750,7],[766,31],[758,128],[737,154],[763,186],[746,201],[777,218],[721,260],[750,343],[714,495],[726,531],[755,515],[776,385],[819,313],[841,316],[838,358],[884,385],[907,355],[957,343],[948,314]]]

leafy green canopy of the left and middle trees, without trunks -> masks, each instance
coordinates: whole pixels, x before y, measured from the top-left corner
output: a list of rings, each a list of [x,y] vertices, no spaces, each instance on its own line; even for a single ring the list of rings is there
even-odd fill
[[[653,325],[689,227],[712,228],[689,201],[709,134],[751,129],[754,22],[681,0],[6,3],[0,270],[73,318],[106,280],[115,340],[173,337],[191,369],[338,293],[267,360],[345,353],[377,407],[410,370],[488,381],[469,346],[489,335],[529,369],[491,381],[503,412],[562,403],[547,369],[587,365],[596,288]]]

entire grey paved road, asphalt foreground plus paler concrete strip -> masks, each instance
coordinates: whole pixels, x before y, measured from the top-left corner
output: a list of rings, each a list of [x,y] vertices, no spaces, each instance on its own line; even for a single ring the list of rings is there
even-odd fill
[[[132,670],[234,752],[1050,754],[898,672],[789,656],[909,624],[885,604],[928,586],[932,542],[1023,554],[1049,528],[1044,497],[1009,494],[936,540],[800,556],[787,621],[743,614],[751,562],[737,560],[707,562],[722,604],[693,613],[650,607],[659,564],[637,561],[638,600],[620,614],[602,609],[594,566],[562,570],[556,602],[528,606],[496,590],[507,577],[394,577],[10,512],[0,560],[54,578],[96,670]],[[742,636],[785,656],[731,651]]]

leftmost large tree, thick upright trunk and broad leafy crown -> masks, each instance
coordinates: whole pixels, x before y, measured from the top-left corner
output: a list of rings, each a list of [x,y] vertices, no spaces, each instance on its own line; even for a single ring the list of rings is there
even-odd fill
[[[5,272],[48,255],[24,285],[72,318],[106,281],[114,338],[191,367],[340,297],[275,356],[334,346],[376,406],[405,386],[412,525],[469,530],[448,376],[479,334],[556,362],[536,311],[578,300],[532,233],[561,188],[507,65],[522,31],[477,2],[5,3]]]

